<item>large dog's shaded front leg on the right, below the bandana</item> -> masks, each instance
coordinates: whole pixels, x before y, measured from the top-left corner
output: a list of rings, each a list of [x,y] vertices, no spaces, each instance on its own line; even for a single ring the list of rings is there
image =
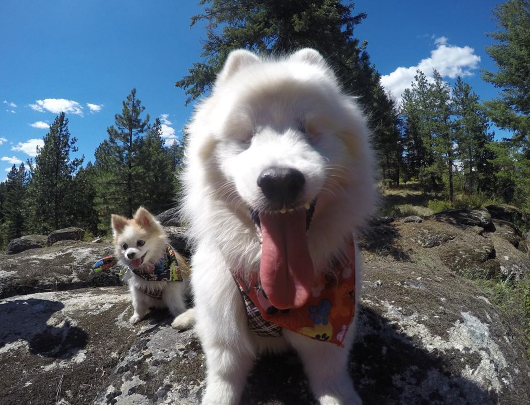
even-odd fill
[[[290,331],[284,330],[284,335],[300,355],[311,389],[321,405],[362,405],[348,373],[353,333],[348,333],[344,348]]]

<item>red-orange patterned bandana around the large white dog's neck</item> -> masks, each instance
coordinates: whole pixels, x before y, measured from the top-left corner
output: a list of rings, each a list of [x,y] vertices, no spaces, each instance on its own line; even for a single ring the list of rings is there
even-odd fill
[[[267,298],[256,274],[249,282],[234,276],[247,311],[249,329],[262,337],[279,337],[282,329],[344,347],[355,315],[355,244],[346,257],[335,260],[333,273],[313,285],[304,306],[279,310]]]

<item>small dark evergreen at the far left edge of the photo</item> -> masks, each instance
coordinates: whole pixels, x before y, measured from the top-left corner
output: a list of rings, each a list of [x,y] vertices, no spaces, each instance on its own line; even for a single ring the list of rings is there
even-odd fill
[[[24,163],[13,165],[5,182],[4,203],[4,243],[22,236],[24,230],[24,212],[21,202],[25,198],[28,186],[28,174]]]

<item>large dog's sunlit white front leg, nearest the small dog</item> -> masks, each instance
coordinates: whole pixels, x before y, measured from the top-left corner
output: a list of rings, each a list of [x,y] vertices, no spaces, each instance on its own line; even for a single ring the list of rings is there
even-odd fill
[[[256,348],[240,292],[223,256],[199,245],[192,263],[195,330],[206,355],[203,405],[239,403]]]

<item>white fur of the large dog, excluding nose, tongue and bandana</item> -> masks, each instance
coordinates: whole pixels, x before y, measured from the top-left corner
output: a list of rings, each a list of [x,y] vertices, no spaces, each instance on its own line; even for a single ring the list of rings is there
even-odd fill
[[[372,209],[374,175],[365,118],[314,50],[278,60],[232,52],[189,126],[182,214],[197,246],[192,288],[207,361],[203,404],[237,404],[256,354],[288,346],[322,404],[360,404],[347,371],[354,328],[344,349],[289,331],[260,338],[248,330],[231,274],[258,271],[261,246],[249,207],[265,205],[256,180],[271,166],[301,171],[304,202],[318,198],[307,241],[315,276],[329,271]]]

